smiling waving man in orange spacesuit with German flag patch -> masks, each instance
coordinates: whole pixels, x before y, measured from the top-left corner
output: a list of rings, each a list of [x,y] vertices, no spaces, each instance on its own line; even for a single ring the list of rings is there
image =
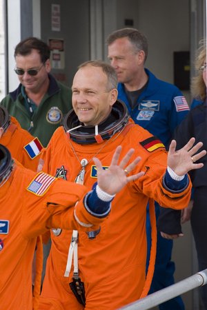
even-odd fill
[[[97,178],[92,157],[108,169],[114,149],[121,145],[124,152],[133,147],[134,156],[141,156],[133,172],[144,171],[144,176],[116,195],[110,217],[98,229],[52,230],[39,309],[117,309],[146,296],[150,288],[157,234],[152,200],[173,209],[187,207],[191,189],[187,173],[203,167],[195,161],[206,151],[198,152],[202,143],[193,146],[191,138],[177,152],[172,141],[167,154],[161,141],[135,125],[124,103],[117,101],[117,74],[107,63],[88,61],[79,66],[72,83],[72,106],[42,152],[44,172],[90,189]],[[126,173],[130,175],[128,168]],[[146,278],[149,199],[153,259]]]

